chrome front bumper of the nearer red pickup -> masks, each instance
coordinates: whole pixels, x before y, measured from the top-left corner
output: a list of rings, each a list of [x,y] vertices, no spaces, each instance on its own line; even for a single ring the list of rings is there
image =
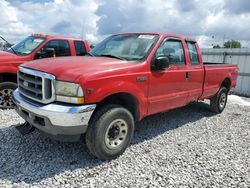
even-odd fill
[[[31,125],[49,135],[80,135],[86,132],[96,105],[40,104],[13,92],[17,113]]]

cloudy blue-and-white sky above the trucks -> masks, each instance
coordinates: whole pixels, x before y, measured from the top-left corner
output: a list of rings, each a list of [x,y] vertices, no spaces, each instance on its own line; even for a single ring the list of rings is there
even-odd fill
[[[240,40],[250,47],[250,0],[0,0],[0,34],[84,37],[95,44],[121,32],[194,36],[202,47]]]

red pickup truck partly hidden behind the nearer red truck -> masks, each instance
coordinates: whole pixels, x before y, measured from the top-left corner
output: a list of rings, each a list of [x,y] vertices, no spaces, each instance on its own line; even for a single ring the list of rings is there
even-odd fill
[[[20,64],[46,57],[82,56],[89,51],[86,40],[42,34],[33,34],[0,51],[0,108],[13,107],[11,94],[17,87],[16,73]]]

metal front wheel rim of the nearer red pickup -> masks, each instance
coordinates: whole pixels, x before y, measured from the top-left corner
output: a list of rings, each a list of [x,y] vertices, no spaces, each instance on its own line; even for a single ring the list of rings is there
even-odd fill
[[[128,134],[128,124],[123,119],[112,121],[105,133],[105,144],[109,149],[117,149],[121,146]]]

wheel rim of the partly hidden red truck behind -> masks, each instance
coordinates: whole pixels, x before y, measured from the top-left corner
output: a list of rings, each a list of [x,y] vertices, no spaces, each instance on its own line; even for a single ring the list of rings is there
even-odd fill
[[[12,101],[12,89],[0,90],[0,107],[2,108],[13,108],[14,103]]]

